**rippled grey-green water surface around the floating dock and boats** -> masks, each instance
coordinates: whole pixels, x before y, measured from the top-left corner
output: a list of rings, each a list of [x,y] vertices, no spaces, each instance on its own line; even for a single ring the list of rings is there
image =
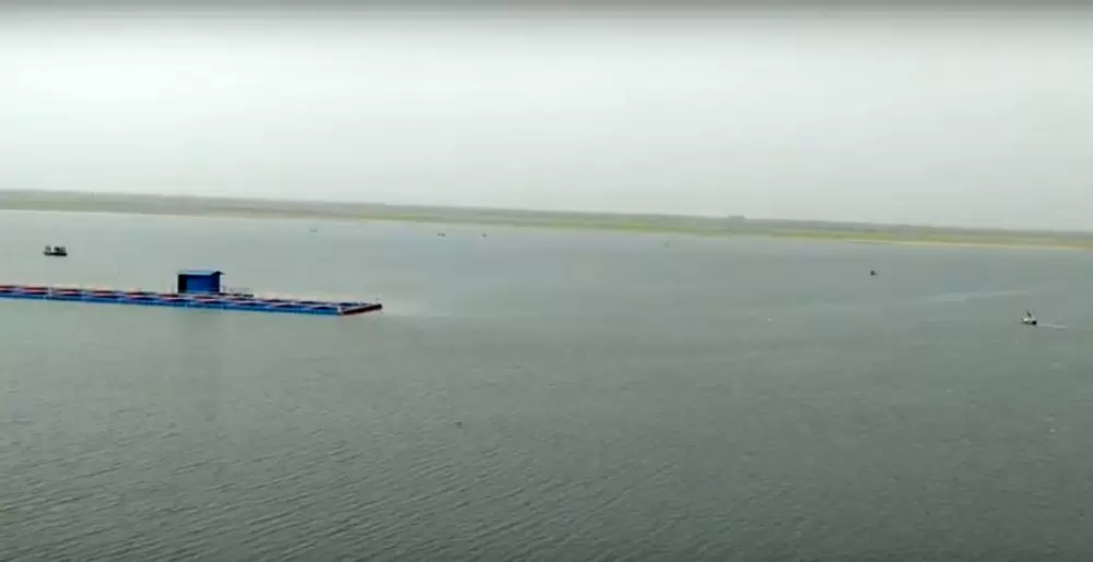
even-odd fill
[[[1088,254],[2,213],[0,263],[388,308],[0,301],[5,561],[1093,558]]]

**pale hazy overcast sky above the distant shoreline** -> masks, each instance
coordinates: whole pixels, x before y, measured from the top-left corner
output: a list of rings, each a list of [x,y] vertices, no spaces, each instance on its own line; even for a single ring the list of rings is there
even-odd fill
[[[1093,19],[0,14],[0,189],[1093,228]]]

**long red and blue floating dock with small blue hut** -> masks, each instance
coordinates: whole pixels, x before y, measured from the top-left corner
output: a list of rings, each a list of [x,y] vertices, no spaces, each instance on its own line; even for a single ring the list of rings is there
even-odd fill
[[[178,287],[175,292],[70,288],[49,285],[0,285],[0,299],[281,312],[325,316],[349,316],[384,308],[378,302],[299,300],[258,297],[244,292],[224,292],[220,287],[222,275],[224,275],[223,272],[214,270],[178,272]]]

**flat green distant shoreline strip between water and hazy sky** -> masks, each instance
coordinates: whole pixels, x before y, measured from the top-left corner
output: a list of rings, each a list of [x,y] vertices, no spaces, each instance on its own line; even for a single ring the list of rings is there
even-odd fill
[[[806,223],[745,219],[743,217],[621,215],[101,193],[0,191],[0,211],[324,222],[400,222],[609,230],[720,238],[760,237],[894,246],[1093,250],[1093,232],[987,230]]]

